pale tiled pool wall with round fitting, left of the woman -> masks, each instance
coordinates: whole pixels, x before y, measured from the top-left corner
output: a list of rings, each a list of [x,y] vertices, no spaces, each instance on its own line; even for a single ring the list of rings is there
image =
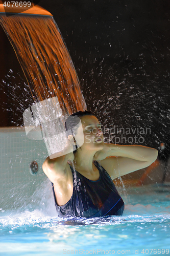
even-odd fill
[[[48,179],[42,164],[47,155],[42,140],[30,140],[24,127],[2,127],[0,129],[0,208],[24,208],[34,201],[35,191]],[[30,173],[30,164],[36,161],[38,172]]]

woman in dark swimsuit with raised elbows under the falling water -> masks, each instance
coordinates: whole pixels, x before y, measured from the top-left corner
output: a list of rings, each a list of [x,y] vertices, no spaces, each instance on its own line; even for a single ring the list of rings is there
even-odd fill
[[[158,151],[140,145],[104,143],[101,124],[90,111],[71,116],[81,119],[83,145],[78,148],[75,140],[78,131],[71,132],[68,140],[76,145],[76,150],[71,145],[71,153],[67,153],[70,148],[66,148],[65,155],[47,157],[42,165],[53,185],[58,216],[122,215],[124,201],[112,180],[149,166],[156,160]],[[75,123],[66,120],[65,126],[66,131],[73,131]]]

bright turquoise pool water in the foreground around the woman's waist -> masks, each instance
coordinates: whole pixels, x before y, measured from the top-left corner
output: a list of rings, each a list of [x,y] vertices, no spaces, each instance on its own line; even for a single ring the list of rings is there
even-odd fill
[[[0,214],[0,255],[170,255],[170,184],[119,188],[121,217],[62,219],[34,207]]]

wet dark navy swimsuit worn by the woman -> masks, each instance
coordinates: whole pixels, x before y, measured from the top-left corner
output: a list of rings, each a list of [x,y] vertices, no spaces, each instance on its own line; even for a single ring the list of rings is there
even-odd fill
[[[70,165],[73,177],[73,192],[70,200],[58,206],[55,198],[55,205],[59,217],[85,217],[94,218],[106,215],[122,215],[124,211],[124,201],[119,196],[118,191],[106,170],[96,161],[95,166],[99,169],[99,180],[92,181],[74,172]]]

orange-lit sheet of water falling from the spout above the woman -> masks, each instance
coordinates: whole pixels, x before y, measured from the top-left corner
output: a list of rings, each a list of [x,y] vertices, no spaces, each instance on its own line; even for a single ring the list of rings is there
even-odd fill
[[[79,80],[53,17],[0,16],[37,101],[58,97],[63,115],[86,109]]]

